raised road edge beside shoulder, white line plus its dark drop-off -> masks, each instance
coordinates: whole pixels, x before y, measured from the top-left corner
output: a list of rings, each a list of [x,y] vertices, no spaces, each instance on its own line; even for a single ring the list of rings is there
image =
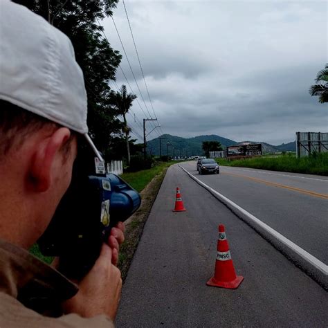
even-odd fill
[[[277,250],[280,251],[287,259],[289,259],[295,266],[300,268],[304,273],[307,273],[313,280],[318,282],[325,290],[328,290],[328,266],[322,263],[319,259],[313,255],[307,253],[289,239],[273,230],[270,226],[264,224],[262,221],[248,213],[246,210],[238,206],[230,199],[219,194],[216,190],[210,188],[208,185],[197,179],[190,172],[185,170],[184,167],[179,165],[190,178],[196,181],[203,188],[208,190],[215,198],[229,208],[239,219],[242,219],[248,226],[252,227],[259,235],[264,237],[270,244],[272,244]]]

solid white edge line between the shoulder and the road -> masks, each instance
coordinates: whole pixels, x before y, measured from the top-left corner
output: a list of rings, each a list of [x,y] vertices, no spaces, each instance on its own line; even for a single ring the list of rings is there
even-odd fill
[[[199,179],[197,179],[190,172],[188,172],[187,170],[185,170],[185,168],[182,167],[181,165],[179,165],[179,166],[192,179],[194,179],[195,181],[197,181],[197,183],[199,183],[200,185],[203,185],[204,188],[206,188],[207,190],[209,190],[213,194],[216,194],[217,197],[219,197],[220,199],[222,199],[226,203],[230,204],[230,206],[233,206],[234,208],[236,208],[237,210],[239,210],[240,212],[242,212],[244,215],[246,215],[246,217],[248,217],[248,219],[250,219],[253,222],[255,222],[255,224],[257,224],[258,226],[261,226],[264,230],[266,230],[267,233],[270,233],[275,238],[277,238],[280,242],[282,242],[282,244],[284,244],[287,247],[291,248],[295,253],[298,253],[298,255],[300,255],[303,259],[307,260],[307,262],[309,262],[311,265],[313,265],[316,268],[318,268],[318,270],[320,270],[322,273],[325,273],[325,275],[328,275],[328,266],[325,263],[321,262],[320,259],[317,259],[313,255],[311,255],[310,253],[308,253],[306,250],[304,250],[303,248],[300,248],[300,246],[298,246],[295,243],[291,242],[291,240],[287,239],[286,237],[284,237],[282,234],[278,233],[276,230],[274,230],[273,228],[271,228],[267,224],[264,224],[264,222],[262,222],[261,220],[257,219],[257,217],[255,217],[254,215],[251,215],[249,212],[247,212],[246,210],[244,210],[244,208],[240,207],[239,205],[237,205],[233,201],[230,201],[230,199],[226,198],[223,194],[220,194],[219,192],[217,192],[216,190],[214,190],[213,188],[211,188],[209,185],[206,185],[206,183],[203,183],[203,181],[200,181]]]

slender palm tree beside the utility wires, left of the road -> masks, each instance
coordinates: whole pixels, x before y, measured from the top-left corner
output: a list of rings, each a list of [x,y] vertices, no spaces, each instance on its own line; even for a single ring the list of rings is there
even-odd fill
[[[130,165],[130,147],[129,147],[129,133],[131,129],[127,125],[126,114],[132,106],[132,102],[137,98],[132,93],[127,93],[127,87],[122,84],[120,89],[114,93],[114,106],[118,109],[119,115],[123,116],[122,132],[125,134],[125,141],[127,143],[127,163]]]

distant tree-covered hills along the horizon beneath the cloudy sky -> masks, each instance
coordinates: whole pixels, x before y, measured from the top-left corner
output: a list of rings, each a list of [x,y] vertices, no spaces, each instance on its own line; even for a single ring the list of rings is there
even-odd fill
[[[216,136],[215,134],[211,134],[209,136],[196,136],[193,138],[181,138],[179,136],[163,134],[163,136],[161,136],[161,154],[162,156],[167,155],[168,150],[169,156],[201,156],[203,155],[203,149],[201,148],[203,141],[219,141],[224,149],[226,149],[228,146],[239,145],[242,143],[261,143],[263,154],[277,152],[295,152],[295,141],[274,146],[268,143],[254,141],[237,142],[221,136]],[[167,143],[170,145],[167,145]],[[147,151],[151,152],[153,155],[158,156],[160,154],[160,139],[154,138],[147,141]]]

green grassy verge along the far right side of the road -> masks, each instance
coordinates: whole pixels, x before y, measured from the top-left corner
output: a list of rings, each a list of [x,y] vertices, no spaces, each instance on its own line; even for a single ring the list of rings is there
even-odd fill
[[[302,158],[296,158],[293,154],[284,154],[279,157],[255,157],[236,161],[216,158],[216,161],[219,165],[226,166],[328,176],[328,153],[314,153]]]

